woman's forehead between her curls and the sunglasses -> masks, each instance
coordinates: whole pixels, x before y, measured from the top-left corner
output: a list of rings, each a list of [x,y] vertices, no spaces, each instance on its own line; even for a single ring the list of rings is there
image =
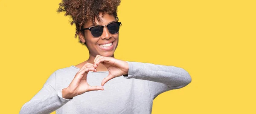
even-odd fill
[[[116,20],[116,18],[110,14],[104,14],[104,17],[102,17],[102,13],[99,13],[99,18],[101,21],[99,21],[96,17],[94,18],[97,25],[107,25],[108,23]],[[84,28],[88,28],[90,26],[93,26],[93,22],[91,20],[84,24]]]

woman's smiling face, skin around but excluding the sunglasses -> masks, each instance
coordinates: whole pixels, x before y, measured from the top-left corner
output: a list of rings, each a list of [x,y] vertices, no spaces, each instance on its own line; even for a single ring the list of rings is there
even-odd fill
[[[101,16],[102,13],[99,13],[99,17]],[[105,14],[104,17],[101,17],[101,20],[102,22],[99,22],[95,17],[95,23],[101,26],[116,22],[116,18],[113,15],[109,14]],[[83,26],[83,28],[90,27],[93,27],[92,21],[88,21]],[[108,31],[108,28],[105,26],[103,28],[103,33],[100,37],[93,37],[90,30],[84,30],[84,34],[82,34],[81,32],[79,33],[79,38],[83,43],[86,43],[90,56],[96,57],[96,55],[98,54],[105,57],[113,57],[114,51],[116,50],[116,47],[118,45],[119,33],[111,34]]]

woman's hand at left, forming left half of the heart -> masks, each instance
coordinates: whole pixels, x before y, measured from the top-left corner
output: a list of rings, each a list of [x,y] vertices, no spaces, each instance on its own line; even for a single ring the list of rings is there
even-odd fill
[[[104,90],[102,86],[90,86],[87,83],[87,74],[89,71],[96,72],[97,70],[93,67],[93,64],[85,63],[76,73],[76,76],[71,81],[70,85],[67,88],[62,89],[62,97],[71,99],[87,91]]]

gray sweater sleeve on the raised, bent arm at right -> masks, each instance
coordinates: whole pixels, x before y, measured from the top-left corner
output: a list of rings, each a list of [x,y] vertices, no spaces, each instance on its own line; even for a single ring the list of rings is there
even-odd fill
[[[190,74],[183,68],[139,62],[128,62],[128,64],[128,75],[124,77],[148,80],[153,99],[165,91],[183,88],[191,82]]]

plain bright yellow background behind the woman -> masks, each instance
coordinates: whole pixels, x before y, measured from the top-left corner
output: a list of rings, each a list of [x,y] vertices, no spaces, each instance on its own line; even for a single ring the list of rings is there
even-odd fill
[[[53,71],[87,60],[61,0],[0,1],[0,114],[17,114]],[[152,114],[256,114],[255,0],[122,0],[115,57],[184,68],[192,83]],[[53,113],[55,114],[55,112]]]

